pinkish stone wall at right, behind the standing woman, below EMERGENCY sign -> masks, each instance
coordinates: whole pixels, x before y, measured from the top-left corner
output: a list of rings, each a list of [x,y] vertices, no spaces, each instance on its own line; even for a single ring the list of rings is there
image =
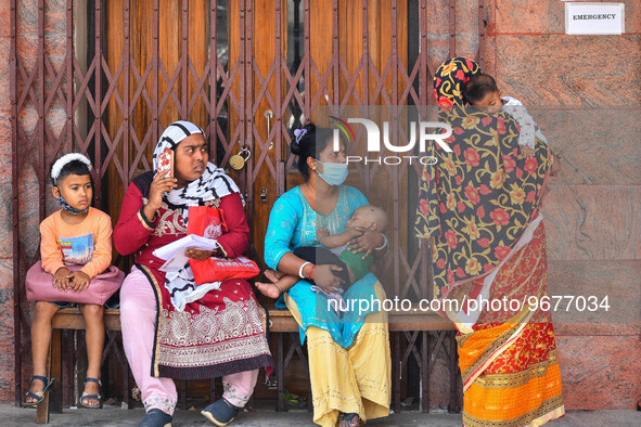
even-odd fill
[[[492,0],[488,10],[486,69],[533,106],[563,156],[544,208],[550,292],[612,305],[554,316],[575,410],[633,409],[641,398],[641,3],[621,2],[623,36],[566,36],[559,0]]]

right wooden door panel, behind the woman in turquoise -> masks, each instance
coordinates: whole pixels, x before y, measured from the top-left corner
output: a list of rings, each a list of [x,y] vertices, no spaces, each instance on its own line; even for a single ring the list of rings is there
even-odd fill
[[[266,135],[266,119],[264,112],[273,109],[274,103],[280,105],[281,112],[287,111],[287,103],[295,96],[286,96],[281,85],[277,91],[279,65],[273,62],[275,54],[275,7],[285,4],[293,7],[293,1],[261,2],[254,1],[253,25],[255,33],[252,44],[255,60],[255,77],[252,80],[252,93],[255,104],[253,111],[255,163],[253,177],[253,221],[254,241],[259,256],[262,255],[262,240],[267,229],[269,211],[272,200],[278,195],[278,180],[286,174],[286,187],[291,189],[302,181],[299,174],[278,171],[274,165],[277,154],[261,148],[261,141]],[[397,105],[401,103],[400,95],[407,85],[407,4],[392,0],[368,2],[367,10],[358,1],[334,2],[332,0],[303,1],[308,8],[304,22],[305,38],[303,42],[305,79],[300,95],[304,102],[303,111],[306,118],[311,118],[317,126],[328,126],[325,115],[317,115],[318,108],[325,105]],[[334,8],[336,8],[334,10]],[[282,12],[282,11],[281,11]],[[281,16],[282,20],[282,16]],[[305,27],[307,26],[307,27]],[[280,26],[280,41],[286,39],[287,31]],[[286,51],[284,49],[281,52]],[[285,61],[286,62],[286,61]],[[401,66],[399,67],[399,64]],[[264,79],[270,73],[269,81]],[[282,81],[282,80],[281,80]],[[396,87],[395,87],[396,86]],[[268,92],[265,91],[267,89]],[[285,95],[282,103],[275,100]],[[402,101],[405,103],[406,101]],[[284,122],[287,117],[279,117],[274,112],[274,119]],[[274,120],[272,119],[272,120]],[[272,121],[273,122],[273,121]],[[282,126],[282,125],[281,125]],[[290,132],[286,127],[283,132]],[[354,146],[348,152],[354,155],[366,155],[362,131]],[[278,135],[272,132],[274,141]],[[398,132],[393,138],[398,140]],[[278,141],[274,141],[278,142]],[[281,137],[281,155],[286,158],[289,148],[285,138]],[[392,154],[392,153],[387,153]],[[264,155],[262,159],[260,156]],[[287,166],[291,161],[287,163]],[[274,177],[274,172],[277,176]],[[399,243],[400,251],[395,257],[407,258],[408,234],[408,171],[407,168],[359,166],[350,172],[347,184],[354,185],[370,197],[374,205],[385,208],[390,217],[388,234],[393,241]],[[265,189],[267,203],[260,200],[260,192]],[[274,192],[275,191],[275,192]],[[407,262],[405,262],[407,264]],[[388,287],[397,292],[398,283],[407,277],[407,268],[402,261],[395,260],[388,271]]]

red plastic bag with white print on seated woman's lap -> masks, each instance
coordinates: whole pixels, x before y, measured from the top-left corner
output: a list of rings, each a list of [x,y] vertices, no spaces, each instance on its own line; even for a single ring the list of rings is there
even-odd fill
[[[222,219],[222,211],[207,206],[189,208],[188,234],[218,238],[227,225]],[[216,258],[198,261],[190,259],[189,264],[194,274],[196,285],[211,282],[225,282],[231,279],[252,279],[260,272],[258,264],[245,257]]]

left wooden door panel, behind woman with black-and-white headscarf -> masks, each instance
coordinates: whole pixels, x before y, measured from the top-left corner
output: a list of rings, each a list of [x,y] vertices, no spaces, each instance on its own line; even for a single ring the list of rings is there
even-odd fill
[[[209,42],[213,12],[205,1],[189,0],[184,9],[183,3],[105,2],[105,61],[116,81],[103,101],[107,103],[103,138],[107,145],[107,211],[114,221],[129,181],[151,169],[153,150],[166,126],[189,119],[214,135],[213,141],[228,138],[216,120],[220,108],[215,86],[225,72],[211,60],[210,51],[216,55],[216,44]],[[211,3],[216,7],[216,1]],[[232,40],[230,53],[235,60],[240,39]],[[239,87],[231,93],[239,98],[238,92]],[[239,115],[232,114],[227,127],[235,128],[238,121]]]

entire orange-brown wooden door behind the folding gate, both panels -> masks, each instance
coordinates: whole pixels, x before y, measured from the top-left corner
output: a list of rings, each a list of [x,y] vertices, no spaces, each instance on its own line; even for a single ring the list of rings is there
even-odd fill
[[[401,94],[409,85],[407,4],[373,0],[363,9],[358,1],[302,0],[306,9],[298,47],[303,61],[290,70],[289,12],[294,0],[222,3],[227,5],[226,64],[211,60],[216,43],[222,41],[211,38],[214,12],[208,2],[107,2],[106,62],[117,79],[107,100],[106,133],[113,146],[108,210],[113,218],[118,217],[128,181],[149,170],[164,127],[179,118],[190,119],[222,148],[218,164],[223,167],[243,146],[252,150],[245,169],[230,170],[230,174],[247,196],[253,244],[257,257],[262,258],[271,206],[286,189],[300,182],[299,174],[289,174],[294,160],[289,150],[293,106],[300,107],[306,119],[328,126],[322,115],[317,115],[321,106],[405,104],[407,99]],[[125,11],[126,4],[130,11]],[[129,39],[123,38],[127,25]],[[298,85],[296,76],[303,83],[292,88]],[[216,85],[220,88],[211,93]],[[268,111],[272,113],[269,134]],[[217,121],[219,115],[226,115],[226,130]],[[348,152],[364,157],[364,134],[357,131],[357,141]],[[403,135],[394,128],[395,140]],[[388,261],[392,286],[407,276],[402,263],[408,256],[407,181],[407,168],[377,165],[357,166],[347,181],[389,212],[388,234],[398,242],[395,260]]]

